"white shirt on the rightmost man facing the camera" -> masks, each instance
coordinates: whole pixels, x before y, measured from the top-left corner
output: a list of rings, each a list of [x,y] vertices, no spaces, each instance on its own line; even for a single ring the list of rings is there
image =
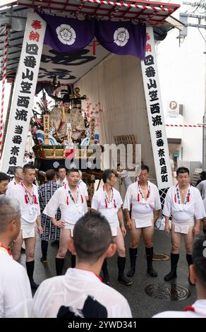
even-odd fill
[[[179,222],[194,220],[194,218],[195,220],[204,218],[205,208],[200,196],[200,191],[194,186],[190,186],[189,201],[186,204],[179,204],[176,186],[171,186],[166,193],[162,213],[167,217],[172,215],[173,218]]]

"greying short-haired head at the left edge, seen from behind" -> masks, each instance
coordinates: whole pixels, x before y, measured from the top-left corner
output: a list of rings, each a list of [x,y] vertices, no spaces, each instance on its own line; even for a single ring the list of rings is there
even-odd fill
[[[0,197],[0,242],[2,239],[13,241],[20,232],[20,208],[15,198]]]

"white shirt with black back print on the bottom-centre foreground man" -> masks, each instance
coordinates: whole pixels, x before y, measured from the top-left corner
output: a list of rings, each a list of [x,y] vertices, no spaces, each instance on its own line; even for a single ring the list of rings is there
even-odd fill
[[[59,308],[65,306],[70,307],[70,312],[75,312],[77,316],[93,318],[91,312],[87,315],[80,313],[87,297],[99,302],[101,311],[104,309],[105,312],[106,308],[108,318],[131,317],[131,309],[123,295],[102,283],[95,273],[78,268],[68,268],[65,275],[41,283],[34,297],[35,317],[56,317]],[[100,314],[97,306],[95,309],[96,314]]]

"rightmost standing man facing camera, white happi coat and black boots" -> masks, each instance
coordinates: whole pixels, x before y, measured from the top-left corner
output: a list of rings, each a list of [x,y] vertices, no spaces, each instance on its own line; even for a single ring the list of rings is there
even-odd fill
[[[193,263],[192,247],[195,235],[200,232],[200,220],[205,218],[205,208],[200,191],[190,186],[190,172],[186,167],[176,170],[176,186],[171,186],[166,193],[163,214],[165,215],[165,230],[170,232],[169,216],[171,220],[171,271],[164,280],[176,278],[176,268],[183,236],[186,248],[188,266]],[[190,276],[188,278],[190,283]]]

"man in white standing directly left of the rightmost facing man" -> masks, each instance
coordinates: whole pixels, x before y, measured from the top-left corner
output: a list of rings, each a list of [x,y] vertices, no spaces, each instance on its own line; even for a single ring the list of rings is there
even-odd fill
[[[131,247],[129,249],[131,268],[128,277],[135,274],[136,257],[140,235],[143,233],[145,251],[147,256],[147,273],[157,277],[152,266],[154,225],[159,218],[161,202],[159,191],[149,179],[149,167],[141,165],[137,181],[128,187],[123,208],[126,211],[127,225],[131,230]],[[131,213],[130,213],[131,211]]]

